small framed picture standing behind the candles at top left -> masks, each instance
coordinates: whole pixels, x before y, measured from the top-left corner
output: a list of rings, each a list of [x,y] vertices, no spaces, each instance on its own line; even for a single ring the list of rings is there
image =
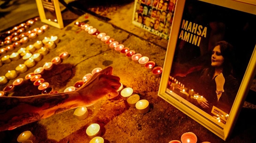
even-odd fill
[[[58,0],[36,0],[42,22],[57,28],[63,28],[63,21]]]

